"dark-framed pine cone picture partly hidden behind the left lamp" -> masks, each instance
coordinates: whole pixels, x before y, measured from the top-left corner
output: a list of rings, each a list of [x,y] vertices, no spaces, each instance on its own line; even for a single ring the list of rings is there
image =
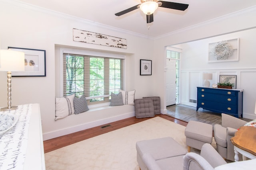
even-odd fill
[[[25,53],[25,71],[14,71],[12,72],[12,77],[46,76],[45,50],[26,49],[18,47],[8,47],[8,49],[22,51]]]

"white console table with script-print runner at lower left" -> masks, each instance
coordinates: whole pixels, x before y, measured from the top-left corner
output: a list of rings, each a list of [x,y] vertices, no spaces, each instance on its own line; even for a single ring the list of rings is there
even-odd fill
[[[0,138],[0,169],[45,170],[44,145],[39,104],[18,106],[1,114],[18,115],[12,129]]]

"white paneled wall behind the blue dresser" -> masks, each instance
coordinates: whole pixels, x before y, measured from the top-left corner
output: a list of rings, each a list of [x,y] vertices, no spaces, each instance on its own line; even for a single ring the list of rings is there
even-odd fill
[[[182,82],[189,84],[189,96],[182,96],[181,103],[196,106],[190,103],[189,99],[196,100],[196,87],[203,85],[203,72],[213,74],[212,80],[209,80],[210,86],[219,82],[220,75],[236,75],[236,88],[244,90],[243,116],[249,119],[256,118],[254,114],[256,91],[253,90],[256,80],[252,78],[256,76],[255,37],[256,28],[180,44],[183,61],[180,68],[182,74],[189,74],[189,77],[181,77]],[[239,61],[208,63],[209,43],[233,38],[239,38]]]

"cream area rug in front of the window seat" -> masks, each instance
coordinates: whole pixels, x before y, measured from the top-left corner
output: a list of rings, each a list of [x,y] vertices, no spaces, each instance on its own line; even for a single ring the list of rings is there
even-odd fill
[[[154,117],[48,152],[46,170],[139,170],[137,141],[172,137],[186,148],[184,130],[182,125]]]

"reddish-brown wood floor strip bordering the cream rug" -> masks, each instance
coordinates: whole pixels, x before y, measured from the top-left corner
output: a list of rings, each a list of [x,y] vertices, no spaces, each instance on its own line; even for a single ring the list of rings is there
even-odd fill
[[[155,115],[155,116],[162,117],[164,119],[170,120],[172,122],[178,123],[178,124],[183,125],[183,126],[186,126],[188,124],[185,121],[175,119],[175,118],[170,117],[168,115],[160,114],[160,115]],[[114,131],[116,129],[120,129],[122,127],[126,127],[126,126],[129,126],[129,125],[135,124],[135,123],[139,123],[141,121],[151,119],[151,118],[152,117],[137,119],[136,117],[130,117],[130,118],[127,118],[127,119],[122,119],[120,121],[115,121],[115,122],[112,122],[112,123],[108,123],[106,125],[110,125],[110,126],[107,126],[107,127],[104,127],[104,128],[102,128],[102,127],[106,126],[106,125],[93,127],[93,128],[90,128],[90,129],[86,129],[86,130],[79,131],[79,132],[76,132],[76,133],[72,133],[72,134],[69,134],[69,135],[64,135],[62,137],[57,137],[57,138],[54,138],[54,139],[49,139],[47,141],[44,141],[44,153],[47,153],[47,152],[50,152],[52,150],[59,149],[59,148],[62,148],[62,147],[66,147],[66,146],[71,145],[73,143],[80,142],[80,141],[83,141],[85,139],[89,139],[91,137],[95,137],[95,136],[98,136],[98,135],[101,135],[101,134],[104,134],[104,133],[107,133],[107,132],[110,132],[110,131]]]

